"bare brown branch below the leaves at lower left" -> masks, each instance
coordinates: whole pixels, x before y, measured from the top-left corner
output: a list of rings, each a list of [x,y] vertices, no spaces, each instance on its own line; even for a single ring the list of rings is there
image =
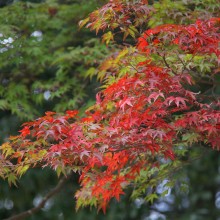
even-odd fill
[[[69,174],[67,176],[63,176],[60,179],[60,181],[58,182],[58,184],[48,194],[46,194],[46,196],[42,199],[42,201],[36,207],[33,207],[29,210],[26,210],[22,213],[19,213],[17,215],[14,215],[14,216],[9,217],[4,220],[23,220],[23,219],[33,215],[34,213],[38,212],[40,209],[42,209],[45,206],[46,202],[51,197],[55,196],[57,193],[59,193],[61,191],[61,189],[63,188],[63,186],[65,185],[67,180],[70,178],[70,176],[71,176],[71,174]]]

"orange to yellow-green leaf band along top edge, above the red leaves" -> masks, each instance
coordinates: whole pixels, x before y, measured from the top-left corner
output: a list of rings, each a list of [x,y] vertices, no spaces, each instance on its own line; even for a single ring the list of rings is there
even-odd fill
[[[103,40],[108,43],[117,34],[123,34],[124,40],[129,35],[136,38],[149,27],[161,24],[189,24],[196,19],[210,19],[218,14],[219,4],[215,0],[113,0],[92,12],[79,24],[81,27],[86,25],[96,33],[99,30],[109,30],[103,35]]]

